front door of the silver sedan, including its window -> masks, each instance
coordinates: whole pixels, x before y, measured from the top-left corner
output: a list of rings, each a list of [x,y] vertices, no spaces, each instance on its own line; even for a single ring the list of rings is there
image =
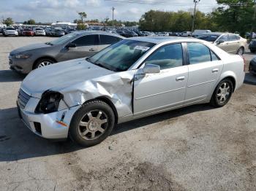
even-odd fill
[[[181,43],[160,47],[146,59],[145,65],[148,63],[159,65],[160,72],[135,74],[135,116],[179,106],[185,98],[188,66],[184,65]]]

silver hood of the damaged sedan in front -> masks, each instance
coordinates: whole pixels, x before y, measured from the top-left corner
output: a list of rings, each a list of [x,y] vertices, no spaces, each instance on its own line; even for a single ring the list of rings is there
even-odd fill
[[[88,79],[113,73],[113,71],[87,62],[85,58],[79,58],[54,63],[53,65],[31,71],[23,80],[21,88],[31,93],[31,96],[34,98],[40,98],[45,90],[58,91],[71,85],[85,82]]]

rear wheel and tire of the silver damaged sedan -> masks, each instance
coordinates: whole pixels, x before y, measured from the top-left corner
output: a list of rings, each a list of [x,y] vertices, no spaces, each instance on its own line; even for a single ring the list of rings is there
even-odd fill
[[[223,91],[222,91],[222,90]],[[214,90],[211,96],[211,105],[216,107],[222,107],[230,101],[233,93],[233,82],[230,79],[222,79]]]

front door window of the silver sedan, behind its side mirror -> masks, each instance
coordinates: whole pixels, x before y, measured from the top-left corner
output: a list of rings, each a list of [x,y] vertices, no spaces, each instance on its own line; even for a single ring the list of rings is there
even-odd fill
[[[183,65],[181,44],[170,44],[159,48],[145,62],[160,66],[160,69],[171,69]]]

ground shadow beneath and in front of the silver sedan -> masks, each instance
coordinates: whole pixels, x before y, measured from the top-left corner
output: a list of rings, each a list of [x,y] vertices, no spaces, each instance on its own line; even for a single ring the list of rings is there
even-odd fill
[[[143,119],[132,122],[125,122],[121,125],[117,125],[110,136],[184,114],[208,109],[213,109],[213,107],[208,104],[200,104],[156,114],[151,117],[144,117]],[[80,149],[87,149],[72,143],[70,140],[53,142],[34,135],[18,118],[17,108],[0,109],[0,123],[0,162],[59,155]]]

